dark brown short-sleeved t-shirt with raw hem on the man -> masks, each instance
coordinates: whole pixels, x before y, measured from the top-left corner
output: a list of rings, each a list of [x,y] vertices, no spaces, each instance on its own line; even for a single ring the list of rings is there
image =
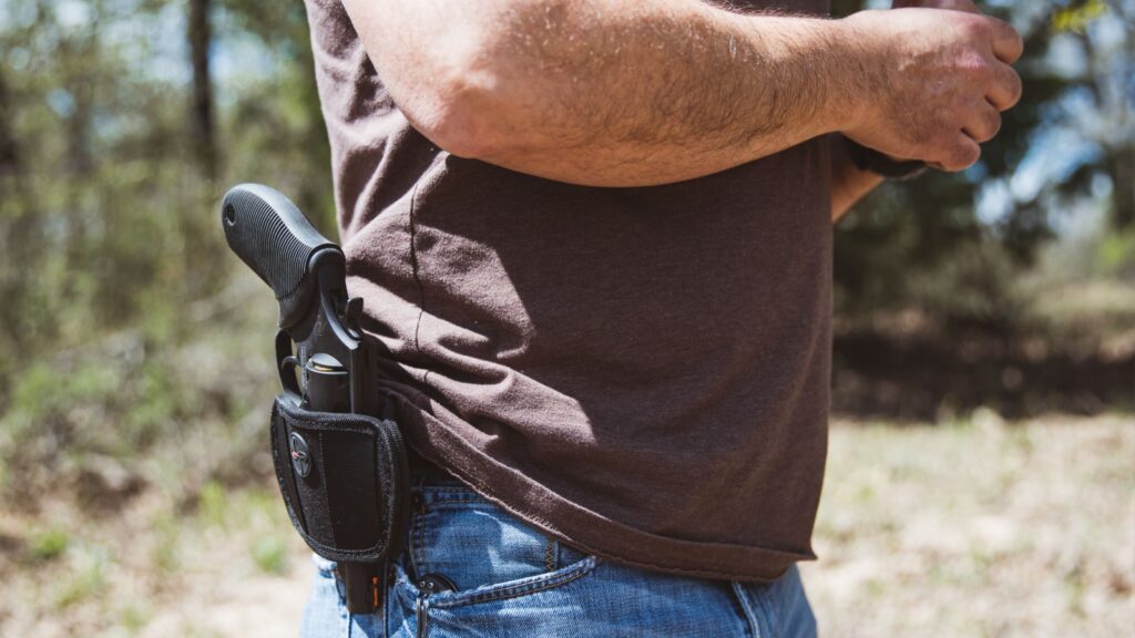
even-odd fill
[[[413,447],[616,562],[768,580],[813,557],[825,141],[640,188],[461,159],[410,126],[338,0],[306,2],[347,284]]]

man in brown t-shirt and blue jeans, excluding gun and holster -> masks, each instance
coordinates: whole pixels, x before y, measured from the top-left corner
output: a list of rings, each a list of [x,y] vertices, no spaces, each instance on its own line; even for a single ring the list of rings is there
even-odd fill
[[[381,608],[322,563],[305,636],[815,633],[832,218],[1020,93],[922,5],[308,0],[417,487]]]

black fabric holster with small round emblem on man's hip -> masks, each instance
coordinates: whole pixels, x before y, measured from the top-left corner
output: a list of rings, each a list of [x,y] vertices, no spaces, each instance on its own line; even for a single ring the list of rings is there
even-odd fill
[[[353,613],[377,607],[406,515],[409,470],[397,423],[314,412],[280,395],[271,446],[292,524],[316,554],[339,563]]]

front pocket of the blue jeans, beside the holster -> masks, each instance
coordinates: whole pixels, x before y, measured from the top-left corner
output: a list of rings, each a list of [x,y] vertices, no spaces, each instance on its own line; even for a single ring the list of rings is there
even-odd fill
[[[434,606],[518,597],[575,580],[597,559],[560,543],[460,485],[413,495],[413,578],[442,584]]]

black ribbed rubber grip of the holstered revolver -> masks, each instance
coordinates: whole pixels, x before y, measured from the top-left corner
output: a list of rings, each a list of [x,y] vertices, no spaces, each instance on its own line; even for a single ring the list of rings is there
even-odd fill
[[[276,293],[280,328],[294,326],[306,314],[318,287],[309,276],[311,255],[326,247],[342,251],[291,200],[268,186],[234,186],[220,211],[229,247]]]

